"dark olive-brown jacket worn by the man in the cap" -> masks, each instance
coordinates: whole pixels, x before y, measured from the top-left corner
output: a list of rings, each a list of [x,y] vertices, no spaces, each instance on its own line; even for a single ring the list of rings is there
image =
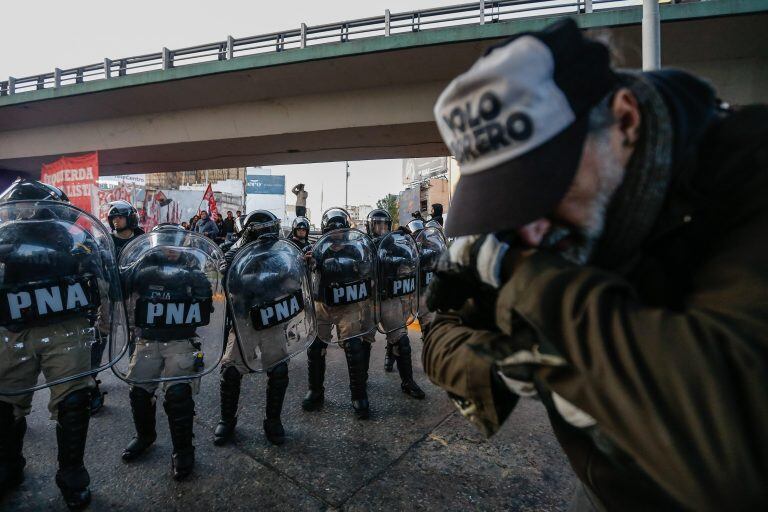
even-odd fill
[[[672,96],[676,177],[642,249],[614,271],[524,258],[499,291],[496,329],[438,315],[424,369],[490,435],[518,395],[478,354],[532,338],[567,362],[534,384],[603,506],[765,508],[768,107],[722,116],[685,147],[695,115],[686,122]]]

